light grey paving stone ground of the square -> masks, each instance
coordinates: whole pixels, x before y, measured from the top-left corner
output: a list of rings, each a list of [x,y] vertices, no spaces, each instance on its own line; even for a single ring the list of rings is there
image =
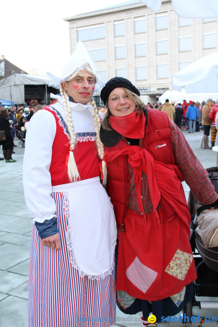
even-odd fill
[[[199,148],[202,130],[199,133],[184,131],[195,155],[205,168],[216,164],[216,153]],[[15,144],[18,139],[15,138]],[[25,148],[15,147],[13,159],[16,163],[0,161],[0,326],[27,327],[27,280],[30,252],[32,217],[25,205],[22,183],[22,164]],[[0,151],[2,157],[2,149]],[[189,187],[183,182],[186,198]],[[206,301],[206,298],[200,298]],[[218,298],[208,298],[218,301]],[[201,318],[218,317],[217,309],[194,309],[193,315]],[[177,315],[179,316],[179,315]],[[170,323],[161,323],[164,326]],[[209,324],[209,323],[208,323]],[[201,326],[208,325],[205,321]],[[125,315],[117,308],[116,323],[118,326],[141,325],[140,315]],[[192,323],[198,326],[198,323]],[[218,326],[218,323],[213,325]],[[172,326],[172,324],[171,324]],[[51,326],[52,327],[52,326]],[[61,326],[65,327],[65,326]]]

